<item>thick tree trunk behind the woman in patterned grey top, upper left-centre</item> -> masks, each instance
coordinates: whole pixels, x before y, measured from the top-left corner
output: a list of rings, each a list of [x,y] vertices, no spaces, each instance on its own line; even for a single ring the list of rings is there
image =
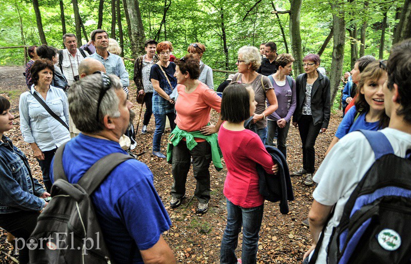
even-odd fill
[[[123,6],[127,19],[128,34],[130,36],[130,48],[133,58],[137,58],[144,52],[144,26],[141,20],[139,2],[137,0],[123,0]],[[132,26],[133,25],[133,26]]]

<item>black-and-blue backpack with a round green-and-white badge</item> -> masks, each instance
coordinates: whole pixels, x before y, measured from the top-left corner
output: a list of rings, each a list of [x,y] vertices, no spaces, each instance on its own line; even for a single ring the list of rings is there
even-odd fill
[[[411,263],[411,161],[396,156],[383,133],[360,131],[376,161],[344,206],[328,263]]]

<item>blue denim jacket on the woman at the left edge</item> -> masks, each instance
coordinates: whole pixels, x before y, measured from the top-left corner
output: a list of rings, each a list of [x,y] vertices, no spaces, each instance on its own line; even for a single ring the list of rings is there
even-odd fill
[[[24,153],[3,135],[0,142],[0,214],[41,210],[43,186],[32,177]]]

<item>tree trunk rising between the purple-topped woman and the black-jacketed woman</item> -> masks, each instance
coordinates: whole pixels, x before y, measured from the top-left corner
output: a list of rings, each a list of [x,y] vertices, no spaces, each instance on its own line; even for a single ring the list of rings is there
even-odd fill
[[[303,73],[303,50],[301,49],[300,12],[302,0],[290,0],[290,41],[294,61],[295,78]]]

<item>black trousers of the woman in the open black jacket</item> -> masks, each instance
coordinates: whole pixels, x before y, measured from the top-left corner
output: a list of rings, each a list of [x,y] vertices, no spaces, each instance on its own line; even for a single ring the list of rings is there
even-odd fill
[[[298,120],[301,142],[303,143],[303,168],[314,173],[315,167],[315,140],[320,133],[322,123],[315,125],[311,115],[302,115]]]

